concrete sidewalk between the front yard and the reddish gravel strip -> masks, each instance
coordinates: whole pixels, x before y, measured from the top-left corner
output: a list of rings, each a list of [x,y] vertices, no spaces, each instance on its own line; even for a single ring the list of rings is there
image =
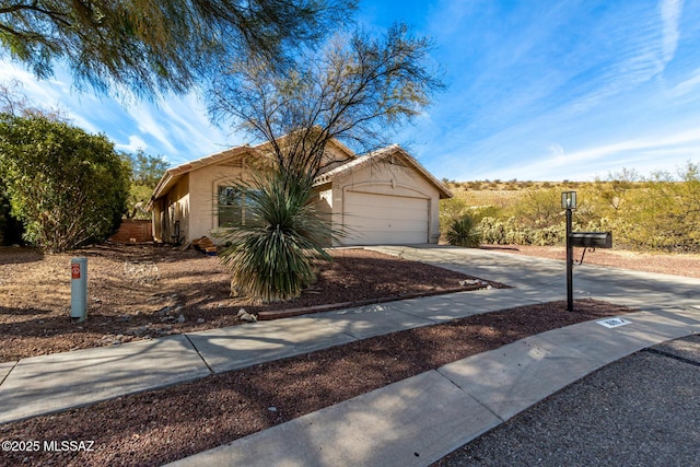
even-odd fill
[[[556,295],[458,292],[23,359],[0,365],[0,423]]]

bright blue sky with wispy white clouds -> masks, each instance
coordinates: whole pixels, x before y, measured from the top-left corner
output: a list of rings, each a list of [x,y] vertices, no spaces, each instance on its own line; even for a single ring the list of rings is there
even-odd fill
[[[394,21],[435,43],[446,92],[395,141],[438,178],[592,180],[700,162],[700,0],[363,0],[368,27]],[[173,165],[245,142],[194,96],[122,104],[78,93],[57,70],[0,80],[59,106],[120,150]]]

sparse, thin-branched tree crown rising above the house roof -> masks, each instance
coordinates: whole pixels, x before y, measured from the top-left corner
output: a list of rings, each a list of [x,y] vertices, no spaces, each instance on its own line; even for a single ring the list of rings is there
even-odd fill
[[[291,71],[237,61],[218,77],[210,112],[269,142],[280,166],[319,171],[331,139],[376,148],[430,104],[443,87],[431,50],[396,24],[381,37],[339,34],[320,52],[300,54]]]

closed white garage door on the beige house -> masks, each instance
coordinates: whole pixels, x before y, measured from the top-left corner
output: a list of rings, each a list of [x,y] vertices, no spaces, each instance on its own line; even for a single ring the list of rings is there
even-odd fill
[[[429,200],[404,196],[347,191],[343,224],[346,245],[428,243]]]

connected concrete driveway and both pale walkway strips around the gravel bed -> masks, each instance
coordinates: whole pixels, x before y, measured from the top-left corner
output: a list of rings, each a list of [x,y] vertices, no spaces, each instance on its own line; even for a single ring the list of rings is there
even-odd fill
[[[372,336],[565,297],[562,261],[450,247],[381,250],[515,288],[405,300],[3,363],[0,423]],[[626,315],[630,324],[612,329],[585,323],[475,355],[182,464],[425,465],[595,369],[700,331],[700,280],[582,267],[574,271],[574,293],[576,299],[608,300],[642,312]]]

